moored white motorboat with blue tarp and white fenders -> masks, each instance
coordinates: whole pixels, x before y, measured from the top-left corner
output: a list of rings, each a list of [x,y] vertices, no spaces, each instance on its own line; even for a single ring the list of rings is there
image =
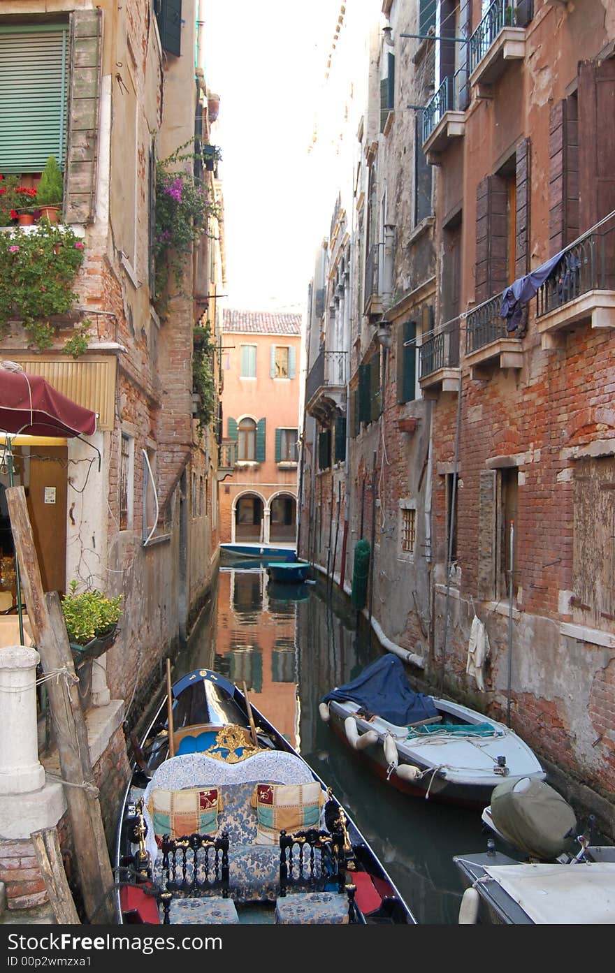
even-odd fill
[[[319,712],[373,771],[406,794],[485,808],[504,778],[546,776],[503,723],[415,693],[401,659],[390,653],[324,696]]]

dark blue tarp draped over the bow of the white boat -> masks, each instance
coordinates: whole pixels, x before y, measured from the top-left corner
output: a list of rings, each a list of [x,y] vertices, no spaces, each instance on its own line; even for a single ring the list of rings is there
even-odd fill
[[[439,715],[430,696],[413,692],[404,664],[390,653],[364,668],[356,679],[323,696],[324,703],[330,700],[358,703],[396,726],[408,726]]]

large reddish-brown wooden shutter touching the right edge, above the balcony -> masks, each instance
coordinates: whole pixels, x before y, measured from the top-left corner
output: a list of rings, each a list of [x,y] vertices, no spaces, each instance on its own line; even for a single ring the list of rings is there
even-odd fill
[[[615,60],[579,63],[581,233],[615,209]]]

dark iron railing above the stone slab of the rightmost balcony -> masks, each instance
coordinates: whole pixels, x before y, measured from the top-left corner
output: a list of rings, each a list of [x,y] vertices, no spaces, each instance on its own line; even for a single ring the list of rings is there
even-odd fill
[[[611,221],[611,224],[613,221]],[[569,246],[536,293],[542,317],[593,290],[615,289],[615,225]]]

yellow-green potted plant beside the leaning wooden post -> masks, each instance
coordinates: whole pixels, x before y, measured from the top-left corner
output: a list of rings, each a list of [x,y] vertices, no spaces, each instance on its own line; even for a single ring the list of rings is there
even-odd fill
[[[73,656],[80,661],[95,658],[116,639],[124,595],[108,597],[96,589],[77,593],[74,580],[69,588],[61,605]]]

